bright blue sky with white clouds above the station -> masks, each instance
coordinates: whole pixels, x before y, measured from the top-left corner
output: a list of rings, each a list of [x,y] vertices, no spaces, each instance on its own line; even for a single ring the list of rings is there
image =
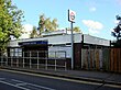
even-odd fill
[[[25,31],[38,26],[41,14],[57,19],[58,29],[70,27],[68,9],[76,12],[74,26],[84,34],[113,40],[111,31],[117,26],[116,15],[121,15],[121,0],[12,0],[24,12]]]

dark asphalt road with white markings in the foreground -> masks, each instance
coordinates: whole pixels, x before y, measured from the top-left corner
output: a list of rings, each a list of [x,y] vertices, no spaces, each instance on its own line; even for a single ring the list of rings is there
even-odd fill
[[[121,90],[121,87],[1,69],[0,90]]]

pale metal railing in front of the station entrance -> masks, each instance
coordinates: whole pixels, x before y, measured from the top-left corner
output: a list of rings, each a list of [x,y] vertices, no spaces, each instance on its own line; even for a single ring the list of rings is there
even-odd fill
[[[66,52],[10,52],[0,57],[2,67],[67,69]]]

